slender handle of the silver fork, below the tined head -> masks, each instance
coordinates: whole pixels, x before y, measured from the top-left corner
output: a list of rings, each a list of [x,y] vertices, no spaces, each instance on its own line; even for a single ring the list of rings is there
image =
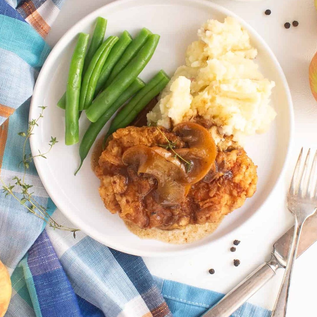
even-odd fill
[[[286,269],[284,272],[281,288],[280,288],[278,297],[276,299],[275,305],[273,307],[271,317],[285,317],[286,316],[289,286],[291,282],[293,266],[294,266],[294,261],[297,254],[299,238],[301,236],[302,227],[303,227],[303,222],[301,222],[301,224],[298,225],[297,220],[295,220],[296,230],[294,230],[294,235],[293,235],[292,243],[289,250],[288,261],[286,264]]]

